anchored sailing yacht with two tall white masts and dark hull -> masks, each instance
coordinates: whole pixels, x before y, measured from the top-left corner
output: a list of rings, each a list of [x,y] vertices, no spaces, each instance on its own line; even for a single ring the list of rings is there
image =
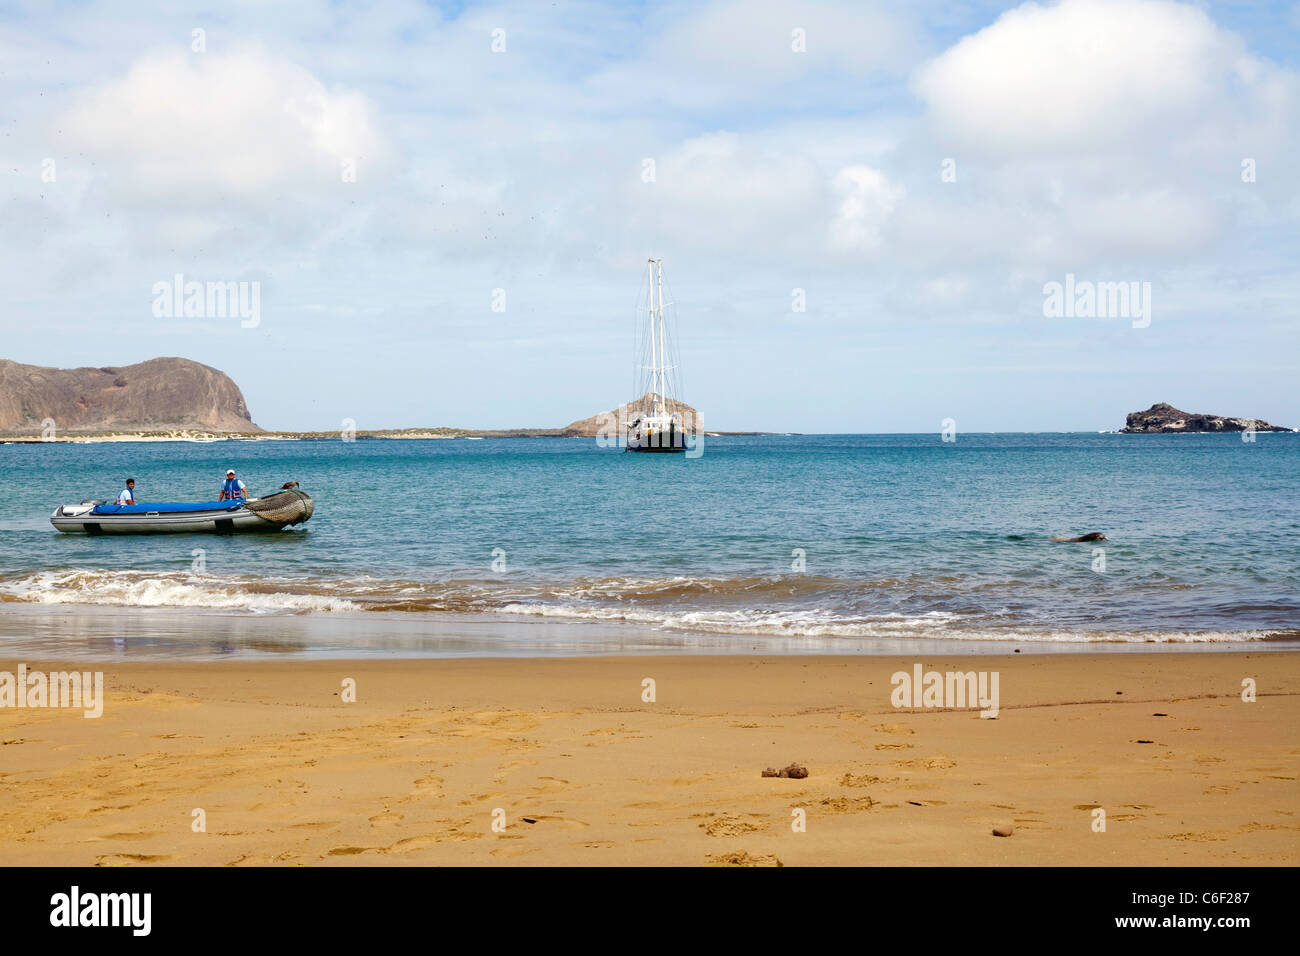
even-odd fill
[[[642,362],[637,365],[641,398],[627,406],[628,419],[623,423],[628,451],[685,451],[686,434],[694,432],[694,421],[685,421],[682,405],[675,392],[677,365],[671,364],[671,345],[664,320],[663,259],[649,259],[650,304],[646,334],[642,337]],[[640,324],[640,323],[638,323]]]

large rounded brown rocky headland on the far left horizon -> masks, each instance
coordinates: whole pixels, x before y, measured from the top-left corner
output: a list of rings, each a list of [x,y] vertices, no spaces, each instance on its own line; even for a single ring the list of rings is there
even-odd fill
[[[259,432],[224,372],[188,359],[121,368],[43,368],[0,359],[0,431],[36,433],[202,428]]]

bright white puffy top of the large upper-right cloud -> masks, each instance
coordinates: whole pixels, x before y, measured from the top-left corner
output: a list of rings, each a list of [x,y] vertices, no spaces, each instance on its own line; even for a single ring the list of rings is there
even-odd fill
[[[1063,0],[1004,13],[926,64],[915,88],[965,147],[1106,151],[1195,120],[1249,69],[1242,43],[1195,7]]]

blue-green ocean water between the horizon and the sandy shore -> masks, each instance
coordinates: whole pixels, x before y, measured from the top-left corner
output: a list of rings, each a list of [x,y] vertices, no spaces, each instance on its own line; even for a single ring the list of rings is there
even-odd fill
[[[615,645],[636,627],[746,649],[1300,637],[1300,434],[719,437],[694,459],[563,438],[46,444],[0,463],[0,622],[187,609],[361,641],[368,619],[464,615],[525,645],[595,622]],[[212,499],[226,467],[254,494],[299,480],[315,516],[230,537],[49,525],[127,476],[142,502]],[[1091,531],[1108,540],[1049,540]]]

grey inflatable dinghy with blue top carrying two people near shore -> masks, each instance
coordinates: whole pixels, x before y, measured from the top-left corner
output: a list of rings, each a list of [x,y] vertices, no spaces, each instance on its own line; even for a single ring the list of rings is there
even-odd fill
[[[280,531],[302,524],[312,516],[315,505],[306,492],[276,492],[248,501],[205,501],[198,503],[109,505],[87,499],[62,505],[49,516],[58,531],[87,535],[165,535],[174,532],[234,533],[239,531]]]

